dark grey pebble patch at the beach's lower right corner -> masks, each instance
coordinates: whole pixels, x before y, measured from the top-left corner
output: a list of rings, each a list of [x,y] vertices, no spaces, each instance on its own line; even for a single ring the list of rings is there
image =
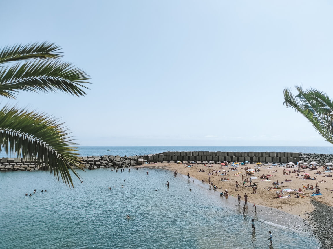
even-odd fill
[[[309,213],[309,221],[313,226],[313,233],[321,244],[321,248],[333,248],[333,207],[316,200],[311,200],[315,209]]]

